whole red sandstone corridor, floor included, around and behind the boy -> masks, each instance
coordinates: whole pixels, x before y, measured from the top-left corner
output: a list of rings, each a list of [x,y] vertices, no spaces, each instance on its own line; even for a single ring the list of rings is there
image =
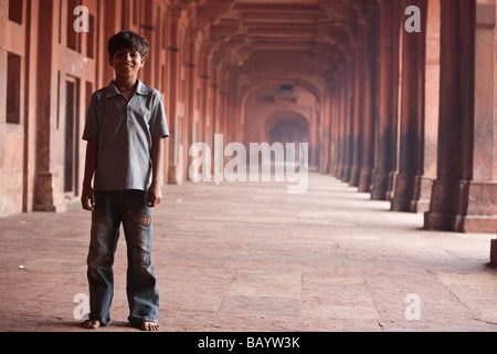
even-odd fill
[[[83,331],[82,136],[131,30],[162,331],[496,332],[496,1],[0,0],[0,330]],[[308,185],[233,178],[255,156]],[[124,238],[115,269],[101,331],[135,331]]]

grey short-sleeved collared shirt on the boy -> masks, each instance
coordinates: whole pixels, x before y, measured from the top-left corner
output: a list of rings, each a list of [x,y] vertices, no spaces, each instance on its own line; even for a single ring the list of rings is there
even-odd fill
[[[167,136],[162,96],[156,88],[138,80],[129,102],[115,80],[95,92],[83,133],[83,139],[98,142],[95,190],[148,190],[152,138]]]

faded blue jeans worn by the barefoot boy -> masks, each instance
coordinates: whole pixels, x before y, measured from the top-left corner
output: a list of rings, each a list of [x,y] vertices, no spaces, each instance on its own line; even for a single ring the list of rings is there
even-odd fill
[[[99,321],[102,325],[107,325],[110,321],[113,264],[120,223],[126,237],[128,257],[128,321],[131,325],[139,325],[144,321],[157,322],[159,291],[151,256],[151,209],[147,206],[147,192],[131,189],[95,194],[87,258],[89,319]]]

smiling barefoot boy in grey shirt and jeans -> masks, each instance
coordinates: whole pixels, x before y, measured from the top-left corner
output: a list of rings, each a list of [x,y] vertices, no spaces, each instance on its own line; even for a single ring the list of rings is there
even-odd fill
[[[163,138],[169,132],[160,93],[137,79],[148,50],[148,41],[131,31],[110,38],[108,61],[116,79],[93,94],[86,117],[82,205],[92,211],[87,258],[91,313],[82,326],[87,329],[110,321],[113,263],[120,223],[127,243],[128,321],[144,331],[159,329],[151,208],[162,198],[159,175]]]

